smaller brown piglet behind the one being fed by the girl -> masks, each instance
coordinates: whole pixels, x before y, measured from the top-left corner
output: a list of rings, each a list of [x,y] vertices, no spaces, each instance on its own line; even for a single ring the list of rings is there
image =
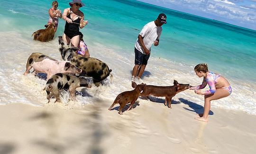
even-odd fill
[[[119,103],[119,105],[120,105],[119,114],[123,114],[122,109],[128,103],[130,103],[130,106],[127,110],[132,109],[134,102],[138,99],[140,92],[143,91],[145,86],[146,86],[146,84],[141,83],[141,84],[137,85],[133,91],[124,91],[124,92],[120,93],[117,96],[116,100],[113,102],[113,104],[110,106],[109,110],[111,110],[113,108],[113,106],[117,103]]]

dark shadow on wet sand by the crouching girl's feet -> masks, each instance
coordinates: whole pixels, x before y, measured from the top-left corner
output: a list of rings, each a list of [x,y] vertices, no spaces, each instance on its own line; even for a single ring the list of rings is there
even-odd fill
[[[195,113],[199,114],[200,117],[201,117],[201,115],[203,114],[203,106],[198,105],[198,104],[196,104],[196,103],[194,103],[194,102],[191,102],[191,101],[189,101],[189,100],[182,99],[182,98],[179,98],[179,100],[180,100],[181,102],[183,102],[184,104],[187,104],[187,105],[188,105],[190,108],[192,108],[193,110],[192,110],[192,109],[185,108],[185,107],[183,107],[183,109],[186,109],[186,110],[195,112]],[[213,115],[213,112],[212,112],[211,110],[209,111],[209,115]]]

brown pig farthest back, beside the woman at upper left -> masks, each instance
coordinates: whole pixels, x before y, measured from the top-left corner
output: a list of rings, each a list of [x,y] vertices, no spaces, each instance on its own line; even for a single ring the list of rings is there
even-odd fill
[[[55,23],[51,23],[46,26],[46,29],[40,29],[35,31],[32,36],[34,36],[34,40],[47,42],[53,39],[55,31],[54,31]]]

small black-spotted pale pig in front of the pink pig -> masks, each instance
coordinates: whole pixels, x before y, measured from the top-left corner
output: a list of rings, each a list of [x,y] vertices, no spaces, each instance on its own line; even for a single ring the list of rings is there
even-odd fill
[[[75,100],[75,89],[78,87],[91,88],[91,84],[82,76],[76,77],[63,73],[53,75],[46,83],[46,93],[48,103],[51,96],[55,96],[56,101],[60,102],[60,90],[67,89],[70,98]]]

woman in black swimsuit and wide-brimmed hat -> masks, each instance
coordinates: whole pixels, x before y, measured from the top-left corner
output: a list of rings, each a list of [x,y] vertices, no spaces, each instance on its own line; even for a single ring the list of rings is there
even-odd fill
[[[81,0],[73,0],[69,3],[71,8],[64,9],[63,19],[66,21],[63,40],[71,46],[79,46],[80,33],[79,27],[83,28],[88,21],[83,21],[84,15],[79,9],[84,6]]]

